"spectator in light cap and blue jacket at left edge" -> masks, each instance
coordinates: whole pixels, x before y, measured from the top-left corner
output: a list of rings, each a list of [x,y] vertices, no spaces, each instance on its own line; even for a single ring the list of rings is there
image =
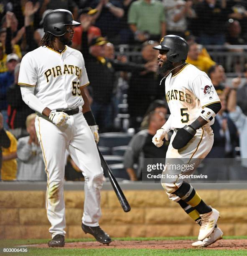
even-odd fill
[[[0,110],[3,114],[4,119],[4,127],[8,129],[7,125],[7,89],[10,87],[11,84],[14,82],[14,71],[15,66],[19,61],[19,58],[16,54],[9,54],[7,56],[7,68],[8,71],[4,73],[0,73]]]

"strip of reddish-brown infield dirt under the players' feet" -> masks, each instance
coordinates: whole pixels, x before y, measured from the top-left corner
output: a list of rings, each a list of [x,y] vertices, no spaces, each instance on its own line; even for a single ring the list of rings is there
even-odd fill
[[[101,248],[130,248],[130,249],[187,249],[193,248],[192,240],[162,240],[162,241],[113,241],[107,245],[98,242],[77,242],[66,243],[64,248],[85,248],[85,249],[101,249]],[[33,245],[32,247],[47,248],[47,244]],[[216,243],[206,247],[205,249],[247,249],[247,239],[229,239],[219,240]]]

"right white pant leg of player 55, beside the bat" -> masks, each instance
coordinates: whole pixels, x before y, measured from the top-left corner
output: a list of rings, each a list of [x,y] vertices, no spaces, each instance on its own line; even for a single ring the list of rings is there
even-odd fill
[[[103,184],[103,170],[94,136],[82,113],[70,118],[72,134],[68,151],[85,177],[84,213],[82,222],[88,226],[98,226],[101,216],[100,190]]]

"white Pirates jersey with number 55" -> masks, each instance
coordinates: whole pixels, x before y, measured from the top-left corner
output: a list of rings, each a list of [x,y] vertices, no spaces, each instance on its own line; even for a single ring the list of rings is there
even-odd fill
[[[82,106],[80,88],[89,84],[81,52],[68,46],[61,53],[43,46],[28,52],[18,80],[35,86],[34,95],[51,110]]]

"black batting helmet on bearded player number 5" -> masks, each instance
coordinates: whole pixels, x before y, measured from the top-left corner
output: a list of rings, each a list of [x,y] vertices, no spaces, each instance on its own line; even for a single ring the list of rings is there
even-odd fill
[[[160,45],[153,47],[155,50],[167,50],[168,61],[179,62],[187,59],[188,44],[180,36],[168,35],[160,40]]]

